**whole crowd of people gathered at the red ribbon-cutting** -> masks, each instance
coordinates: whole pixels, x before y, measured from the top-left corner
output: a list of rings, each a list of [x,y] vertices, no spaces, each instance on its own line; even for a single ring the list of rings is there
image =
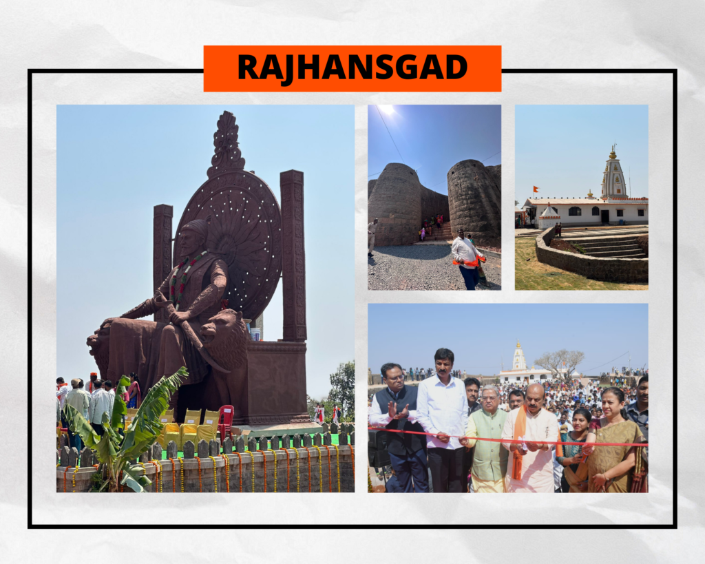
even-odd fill
[[[648,443],[648,374],[636,385],[482,386],[453,376],[451,350],[437,350],[434,362],[430,374],[409,370],[410,379],[424,375],[418,386],[405,386],[399,364],[381,367],[386,387],[369,402],[369,424],[386,430],[387,491],[646,491],[648,448],[638,445]]]

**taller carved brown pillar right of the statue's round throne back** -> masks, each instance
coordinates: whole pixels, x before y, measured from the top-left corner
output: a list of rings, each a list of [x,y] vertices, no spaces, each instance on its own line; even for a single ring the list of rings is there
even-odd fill
[[[304,252],[304,173],[279,175],[281,190],[283,341],[306,341],[306,257]]]

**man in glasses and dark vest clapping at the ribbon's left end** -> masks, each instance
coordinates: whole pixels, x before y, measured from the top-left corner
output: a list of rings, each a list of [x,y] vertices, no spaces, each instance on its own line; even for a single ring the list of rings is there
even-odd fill
[[[399,364],[388,362],[381,367],[382,383],[386,388],[374,394],[369,412],[372,427],[401,431],[424,432],[415,421],[415,386],[404,386]],[[392,468],[405,494],[427,494],[429,474],[426,457],[426,437],[406,433],[387,433],[387,451]]]

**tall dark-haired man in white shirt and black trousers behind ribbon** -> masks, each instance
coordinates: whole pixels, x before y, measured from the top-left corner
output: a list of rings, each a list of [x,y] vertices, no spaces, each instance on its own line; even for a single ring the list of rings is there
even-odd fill
[[[439,348],[434,359],[436,374],[419,384],[417,421],[430,433],[426,439],[434,492],[460,494],[462,453],[467,443],[465,384],[450,376],[455,362],[452,350]]]

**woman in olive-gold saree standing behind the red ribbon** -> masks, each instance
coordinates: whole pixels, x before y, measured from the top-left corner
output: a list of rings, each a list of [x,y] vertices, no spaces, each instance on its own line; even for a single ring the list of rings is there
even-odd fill
[[[641,443],[642,431],[627,419],[624,392],[606,388],[602,392],[603,417],[589,425],[587,441],[582,448],[589,455],[587,491],[625,494],[631,489],[632,468],[637,460],[636,446],[598,446],[599,443]]]

